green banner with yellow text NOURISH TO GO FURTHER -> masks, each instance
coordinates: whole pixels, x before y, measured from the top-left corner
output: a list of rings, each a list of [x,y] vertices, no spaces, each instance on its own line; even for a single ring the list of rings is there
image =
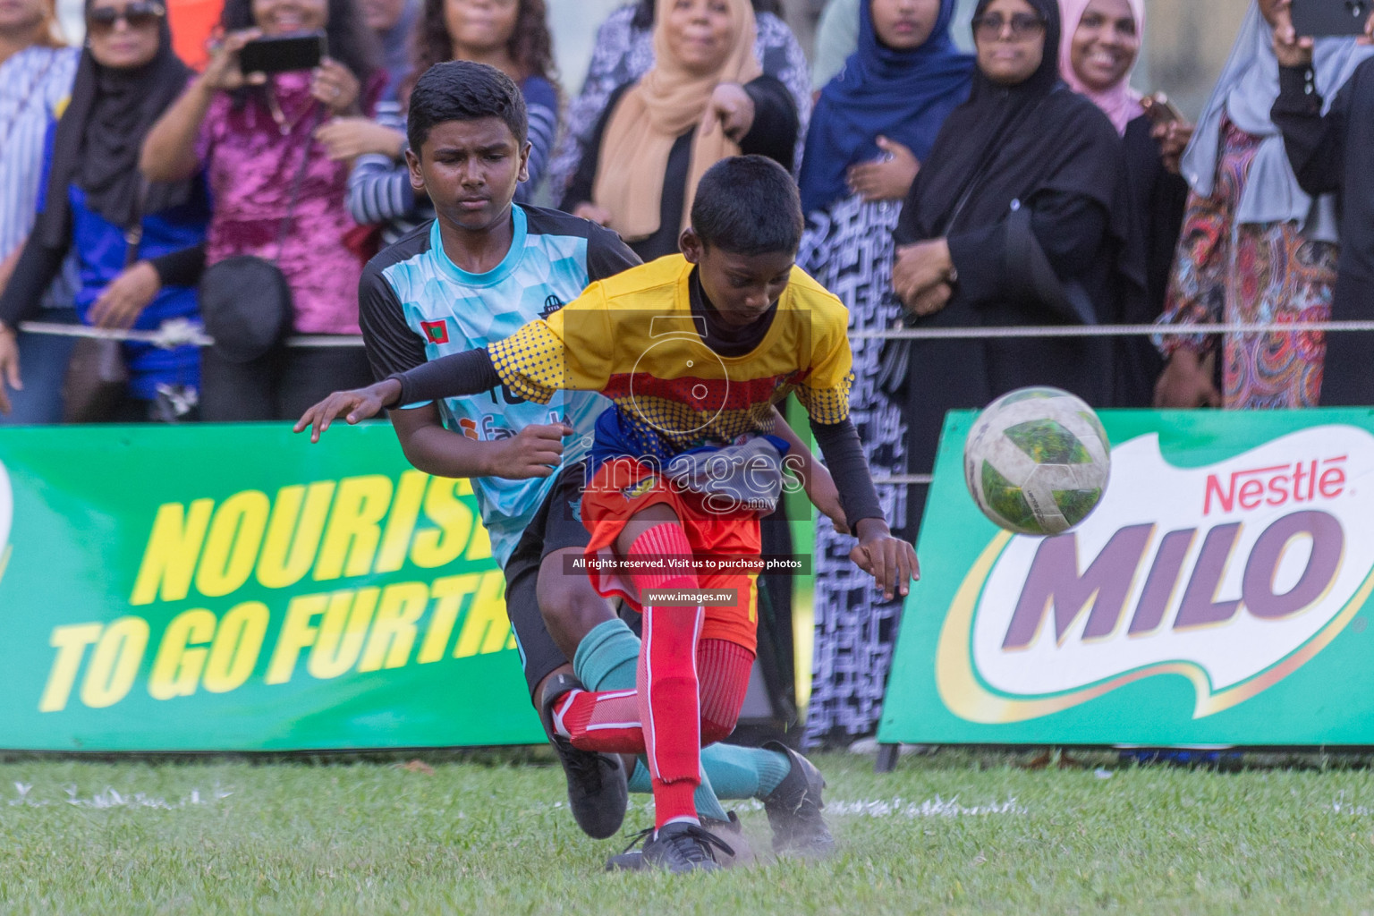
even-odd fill
[[[386,424],[0,431],[0,748],[541,742],[503,595]]]

